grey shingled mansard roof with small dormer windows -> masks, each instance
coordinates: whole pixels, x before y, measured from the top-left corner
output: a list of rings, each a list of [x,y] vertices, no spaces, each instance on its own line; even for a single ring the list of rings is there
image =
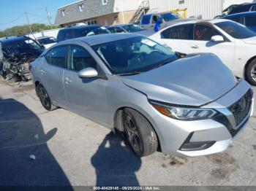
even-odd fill
[[[80,4],[83,4],[83,11],[80,11]],[[68,4],[64,7],[59,7],[55,24],[62,25],[78,20],[108,15],[114,12],[114,4],[115,0],[108,0],[108,3],[105,5],[102,4],[102,0],[83,0]],[[61,11],[64,11],[64,16]]]

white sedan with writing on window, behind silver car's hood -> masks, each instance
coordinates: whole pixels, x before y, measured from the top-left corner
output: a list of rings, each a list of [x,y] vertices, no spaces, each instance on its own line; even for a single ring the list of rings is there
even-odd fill
[[[149,38],[176,52],[211,52],[237,77],[256,85],[256,34],[241,24],[223,19],[193,20],[164,28]]]

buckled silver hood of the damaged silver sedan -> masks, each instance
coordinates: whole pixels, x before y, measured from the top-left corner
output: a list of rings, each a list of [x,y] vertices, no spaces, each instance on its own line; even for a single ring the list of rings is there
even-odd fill
[[[236,86],[236,79],[215,55],[187,55],[165,66],[134,76],[125,85],[148,99],[184,106],[208,104]]]

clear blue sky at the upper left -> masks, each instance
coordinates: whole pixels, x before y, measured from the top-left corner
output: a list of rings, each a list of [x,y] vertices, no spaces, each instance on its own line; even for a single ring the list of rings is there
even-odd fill
[[[30,23],[48,24],[45,7],[54,23],[57,8],[78,0],[0,0],[0,31],[12,26],[26,24],[24,12],[28,12]]]

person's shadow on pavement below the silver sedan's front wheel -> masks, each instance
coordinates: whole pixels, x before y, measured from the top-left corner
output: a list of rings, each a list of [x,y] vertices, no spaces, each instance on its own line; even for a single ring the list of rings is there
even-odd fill
[[[135,175],[140,169],[140,157],[112,132],[105,136],[91,157],[91,164],[97,174],[96,186],[140,185]]]

